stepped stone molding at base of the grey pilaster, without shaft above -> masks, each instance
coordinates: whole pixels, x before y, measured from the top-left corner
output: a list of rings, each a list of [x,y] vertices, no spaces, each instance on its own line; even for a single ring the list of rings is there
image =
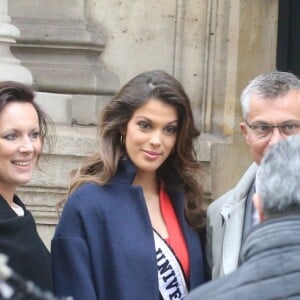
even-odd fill
[[[99,59],[105,44],[96,26],[24,18],[13,22],[21,37],[12,52],[31,70],[39,91],[105,95],[119,87],[117,77]]]

